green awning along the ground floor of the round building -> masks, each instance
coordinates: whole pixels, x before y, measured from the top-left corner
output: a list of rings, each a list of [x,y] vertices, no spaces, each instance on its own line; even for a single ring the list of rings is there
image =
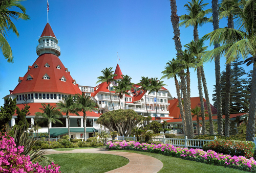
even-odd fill
[[[93,131],[98,132],[98,130],[94,128],[86,128],[87,133],[93,133]],[[70,132],[83,133],[83,128],[70,128]],[[50,129],[51,137],[63,135],[63,134],[68,134],[68,128],[51,128]]]

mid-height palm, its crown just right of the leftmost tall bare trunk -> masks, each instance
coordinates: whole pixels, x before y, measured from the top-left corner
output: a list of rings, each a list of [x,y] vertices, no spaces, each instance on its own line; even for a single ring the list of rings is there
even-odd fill
[[[186,121],[189,122],[187,126],[187,131],[193,129],[192,117],[191,117],[191,103],[190,103],[190,72],[189,68],[195,68],[197,64],[197,59],[188,50],[181,51],[181,56],[179,58],[182,60],[181,63],[184,64],[186,69],[186,82],[187,82],[187,116]],[[189,127],[192,126],[192,127]],[[194,133],[193,133],[194,134]],[[194,137],[193,137],[194,138]]]

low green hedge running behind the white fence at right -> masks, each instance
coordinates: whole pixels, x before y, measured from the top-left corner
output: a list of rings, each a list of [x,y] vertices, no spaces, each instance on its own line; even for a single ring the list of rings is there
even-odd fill
[[[214,137],[217,137],[218,140],[241,140],[245,141],[246,134],[236,134],[230,135],[229,137],[221,136],[221,135],[199,135],[196,136],[194,139],[205,139],[205,140],[214,140]]]

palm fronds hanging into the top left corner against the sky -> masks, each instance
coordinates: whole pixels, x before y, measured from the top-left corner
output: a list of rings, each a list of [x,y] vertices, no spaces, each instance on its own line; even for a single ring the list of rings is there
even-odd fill
[[[16,29],[14,23],[11,19],[18,20],[28,20],[29,15],[26,14],[26,8],[20,4],[22,0],[8,0],[0,2],[0,47],[3,52],[5,59],[8,59],[7,62],[13,63],[12,49],[9,45],[6,37],[8,37],[7,32],[14,32],[16,36],[19,36],[18,30]],[[21,12],[12,11],[11,9],[18,8],[22,10]]]

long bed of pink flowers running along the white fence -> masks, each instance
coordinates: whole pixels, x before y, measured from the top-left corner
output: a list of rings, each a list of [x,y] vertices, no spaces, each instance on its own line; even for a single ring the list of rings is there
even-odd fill
[[[203,151],[201,149],[187,149],[169,144],[146,144],[139,142],[108,142],[106,149],[111,150],[134,150],[163,154],[166,156],[179,157],[186,160],[198,161],[202,163],[230,167],[250,172],[256,171],[256,161],[253,158],[247,159],[244,156],[230,156],[218,154],[214,151]]]

